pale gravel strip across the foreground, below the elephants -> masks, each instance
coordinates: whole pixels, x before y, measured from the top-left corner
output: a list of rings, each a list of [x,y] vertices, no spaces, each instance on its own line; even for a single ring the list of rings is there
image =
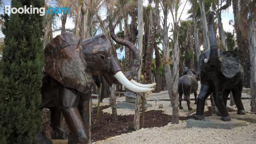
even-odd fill
[[[141,129],[94,143],[255,143],[256,124],[232,130],[185,128],[186,122],[161,128]]]

